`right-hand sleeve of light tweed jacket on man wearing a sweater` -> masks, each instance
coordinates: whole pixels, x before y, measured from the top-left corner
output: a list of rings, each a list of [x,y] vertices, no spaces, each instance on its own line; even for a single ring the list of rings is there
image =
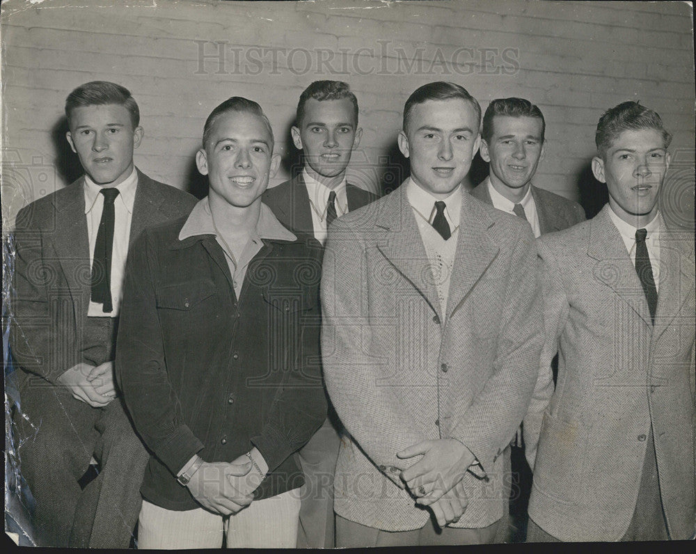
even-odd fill
[[[539,367],[543,321],[537,254],[531,229],[520,235],[509,259],[493,367],[482,368],[490,377],[470,406],[457,409],[461,415],[451,433],[474,454],[484,473],[491,472],[514,436]]]

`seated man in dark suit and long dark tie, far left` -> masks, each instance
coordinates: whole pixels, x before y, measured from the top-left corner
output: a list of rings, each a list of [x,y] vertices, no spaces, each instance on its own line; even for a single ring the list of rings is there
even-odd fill
[[[127,548],[148,454],[113,380],[126,255],[146,225],[189,213],[196,198],[134,167],[143,128],[127,89],[81,85],[65,114],[85,175],[15,225],[14,436],[36,544]],[[99,475],[82,490],[93,457]]]

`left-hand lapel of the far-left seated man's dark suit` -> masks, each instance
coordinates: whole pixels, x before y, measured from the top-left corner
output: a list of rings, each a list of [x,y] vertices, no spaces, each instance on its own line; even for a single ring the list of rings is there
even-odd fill
[[[87,317],[91,292],[91,267],[87,219],[85,216],[84,177],[71,184],[56,199],[56,233],[54,249],[60,260],[76,318]]]

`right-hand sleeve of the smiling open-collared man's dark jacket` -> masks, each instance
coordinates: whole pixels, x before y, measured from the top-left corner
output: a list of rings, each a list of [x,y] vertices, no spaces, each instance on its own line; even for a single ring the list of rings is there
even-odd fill
[[[318,243],[315,252],[319,253]],[[326,420],[327,402],[319,362],[321,262],[317,258],[308,261],[308,265],[295,268],[296,274],[304,274],[312,282],[305,292],[311,308],[303,312],[299,323],[301,347],[283,374],[267,424],[260,435],[251,438],[268,464],[269,472],[305,445]]]

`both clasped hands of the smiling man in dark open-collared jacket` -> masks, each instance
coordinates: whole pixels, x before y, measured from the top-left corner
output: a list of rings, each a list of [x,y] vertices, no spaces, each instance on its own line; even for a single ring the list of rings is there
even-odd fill
[[[254,451],[258,452],[254,448],[252,454]],[[255,460],[263,459],[260,454],[253,456]],[[262,475],[255,470],[247,455],[242,454],[231,462],[204,461],[193,473],[187,487],[196,502],[205,509],[228,516],[251,504],[253,492],[262,481]]]

